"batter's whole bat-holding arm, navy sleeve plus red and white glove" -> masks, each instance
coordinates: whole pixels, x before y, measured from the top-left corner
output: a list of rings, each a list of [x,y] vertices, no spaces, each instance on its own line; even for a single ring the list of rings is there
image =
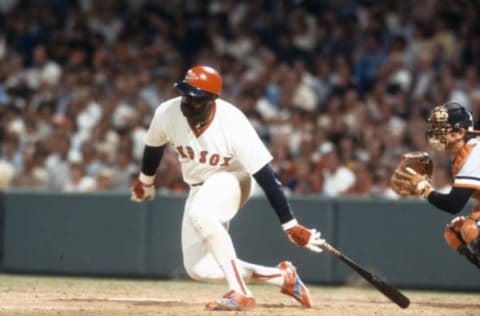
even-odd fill
[[[323,239],[320,238],[320,232],[298,224],[282,190],[281,183],[270,163],[255,172],[253,177],[265,192],[289,239],[297,246],[306,247],[314,252],[321,252],[319,245],[323,243]]]

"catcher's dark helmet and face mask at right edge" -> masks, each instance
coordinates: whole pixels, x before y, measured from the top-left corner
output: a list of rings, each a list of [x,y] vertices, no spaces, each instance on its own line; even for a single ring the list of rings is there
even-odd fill
[[[452,130],[473,130],[472,114],[457,102],[436,106],[428,117],[427,138],[430,148],[445,151],[447,134]]]

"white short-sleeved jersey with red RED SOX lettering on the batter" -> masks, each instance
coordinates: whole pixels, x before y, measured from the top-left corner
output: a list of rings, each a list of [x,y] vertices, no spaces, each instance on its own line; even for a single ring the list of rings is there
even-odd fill
[[[237,107],[216,99],[206,127],[195,132],[181,112],[181,99],[176,97],[157,107],[145,145],[172,145],[187,184],[202,183],[219,171],[246,171],[252,175],[272,160],[255,129]]]

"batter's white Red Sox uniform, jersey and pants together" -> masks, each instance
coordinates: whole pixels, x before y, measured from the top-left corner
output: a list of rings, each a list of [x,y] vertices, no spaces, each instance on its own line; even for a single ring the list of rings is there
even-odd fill
[[[234,105],[215,100],[209,122],[196,131],[183,116],[181,97],[162,103],[148,130],[145,144],[171,144],[178,153],[182,175],[191,186],[182,222],[182,251],[193,279],[227,279],[229,286],[251,294],[243,278],[253,273],[272,275],[265,281],[282,284],[278,268],[237,259],[225,223],[240,207],[240,184],[232,172],[256,173],[272,160],[245,115]],[[250,190],[251,191],[251,190]]]

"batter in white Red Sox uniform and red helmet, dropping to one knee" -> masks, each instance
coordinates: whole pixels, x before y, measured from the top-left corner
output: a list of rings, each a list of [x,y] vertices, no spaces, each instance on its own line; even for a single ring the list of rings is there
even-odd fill
[[[150,123],[132,200],[154,198],[155,170],[169,143],[178,153],[182,176],[190,186],[182,222],[185,269],[193,279],[226,280],[229,286],[222,298],[206,308],[254,307],[255,298],[245,280],[279,286],[282,293],[311,307],[309,291],[290,262],[265,267],[237,258],[228,223],[250,198],[253,178],[295,245],[321,252],[320,232],[297,222],[270,165],[271,154],[244,114],[218,98],[220,74],[208,66],[195,66],[175,87],[182,95],[160,104]]]

